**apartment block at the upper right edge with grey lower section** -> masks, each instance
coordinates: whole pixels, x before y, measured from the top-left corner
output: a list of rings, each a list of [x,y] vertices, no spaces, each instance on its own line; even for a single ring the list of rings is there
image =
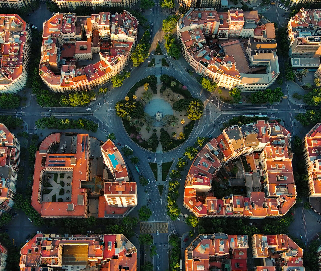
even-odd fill
[[[321,10],[305,10],[304,8],[290,18],[287,35],[292,67],[310,68],[315,71],[320,66],[320,20]]]

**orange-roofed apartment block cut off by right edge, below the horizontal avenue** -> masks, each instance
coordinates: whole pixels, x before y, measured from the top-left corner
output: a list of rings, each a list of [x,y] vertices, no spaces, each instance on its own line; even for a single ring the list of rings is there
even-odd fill
[[[303,157],[308,172],[309,197],[321,197],[321,123],[304,137]]]

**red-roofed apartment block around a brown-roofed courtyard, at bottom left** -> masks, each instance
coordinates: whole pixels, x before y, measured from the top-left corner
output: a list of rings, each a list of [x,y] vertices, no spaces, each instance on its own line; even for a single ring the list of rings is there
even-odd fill
[[[137,249],[122,234],[37,233],[20,253],[21,271],[136,271],[137,265]]]

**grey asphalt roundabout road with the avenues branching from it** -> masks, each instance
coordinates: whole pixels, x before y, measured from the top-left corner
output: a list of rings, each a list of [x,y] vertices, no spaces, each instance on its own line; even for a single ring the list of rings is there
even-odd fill
[[[39,13],[39,16],[34,17],[33,23],[36,20],[39,20],[39,22],[44,19],[42,19],[42,15],[49,16],[51,13],[44,8],[43,6],[43,0],[41,1],[40,10],[36,11],[35,15]],[[272,7],[273,8],[273,7]],[[271,8],[271,9],[272,9]],[[278,9],[276,11],[272,12],[273,14],[276,14],[275,20],[279,23],[281,15],[278,15]],[[121,88],[112,89],[111,83],[107,85],[109,89],[112,89],[105,95],[102,95],[97,98],[96,101],[93,101],[90,106],[83,107],[83,108],[41,108],[37,102],[35,95],[31,95],[31,101],[30,104],[28,104],[25,108],[18,108],[18,109],[2,109],[1,113],[4,115],[13,115],[19,118],[22,118],[25,125],[28,127],[28,133],[29,133],[29,143],[31,139],[32,134],[43,134],[44,138],[45,136],[51,134],[52,132],[55,132],[56,130],[38,130],[35,128],[35,122],[44,116],[50,116],[54,115],[57,118],[69,118],[69,119],[78,119],[78,118],[86,118],[90,119],[96,123],[98,123],[99,130],[97,133],[89,133],[91,136],[97,137],[100,140],[104,140],[105,136],[109,133],[115,133],[116,135],[116,141],[121,143],[122,145],[127,144],[134,150],[134,155],[139,157],[140,162],[137,164],[138,168],[142,172],[142,174],[151,180],[151,183],[149,183],[146,186],[147,194],[146,196],[148,198],[151,198],[151,203],[149,204],[149,207],[152,210],[152,217],[149,219],[149,221],[154,222],[168,222],[169,223],[169,232],[168,233],[160,233],[159,235],[156,234],[156,232],[153,233],[154,237],[154,244],[157,248],[157,255],[153,257],[154,261],[154,270],[155,271],[163,271],[168,269],[168,236],[171,233],[177,233],[179,236],[181,236],[183,233],[188,231],[188,227],[183,222],[179,221],[172,221],[167,213],[166,213],[166,205],[167,205],[167,193],[168,193],[168,178],[164,184],[163,188],[163,194],[162,196],[159,195],[158,187],[155,182],[155,177],[152,173],[152,170],[150,166],[148,165],[148,159],[147,157],[152,157],[153,161],[151,162],[170,162],[173,161],[174,163],[172,168],[174,168],[177,159],[181,156],[183,156],[185,152],[185,148],[187,146],[190,146],[194,144],[196,138],[198,136],[208,136],[208,135],[218,135],[220,133],[220,126],[224,121],[227,121],[230,118],[233,118],[234,116],[239,116],[241,114],[258,114],[258,113],[267,113],[270,118],[281,118],[285,121],[285,127],[292,133],[292,135],[295,135],[298,131],[293,130],[292,122],[294,120],[294,117],[298,113],[304,113],[306,111],[305,105],[296,105],[292,104],[290,99],[283,99],[281,103],[274,104],[274,105],[249,105],[249,104],[237,104],[237,105],[230,105],[226,104],[220,100],[218,100],[216,97],[211,96],[210,93],[204,92],[201,85],[195,80],[194,77],[191,77],[187,71],[183,68],[184,66],[188,66],[186,61],[184,59],[179,60],[173,60],[166,54],[166,50],[163,46],[163,34],[161,32],[161,22],[162,20],[168,16],[168,11],[166,13],[166,10],[162,10],[159,4],[159,1],[156,0],[155,6],[152,8],[151,14],[146,15],[148,20],[150,21],[151,25],[151,43],[152,47],[150,50],[150,58],[153,55],[153,52],[156,48],[157,41],[161,41],[161,49],[163,51],[164,57],[169,62],[168,68],[155,68],[155,67],[148,67],[148,59],[138,68],[134,67],[131,71],[131,77],[126,79],[123,83],[123,86]],[[273,15],[274,16],[274,15]],[[50,17],[50,16],[49,16]],[[48,18],[47,18],[48,19]],[[271,19],[273,21],[274,19]],[[41,28],[41,24],[38,22]],[[281,23],[281,22],[280,22]],[[37,23],[36,23],[37,25]],[[37,25],[38,26],[38,25]],[[149,58],[149,59],[150,59]],[[280,63],[280,69],[281,71],[284,70],[283,66],[284,59],[279,59]],[[126,70],[130,69],[129,67],[126,68]],[[142,149],[140,146],[134,143],[132,139],[127,135],[122,121],[120,118],[116,116],[115,112],[115,105],[116,102],[124,99],[127,92],[130,90],[130,88],[139,80],[147,77],[150,74],[160,75],[160,74],[168,74],[171,76],[174,76],[178,81],[180,81],[183,85],[186,85],[191,92],[192,96],[195,98],[199,98],[204,102],[204,112],[207,112],[200,118],[200,120],[195,122],[195,127],[193,128],[191,134],[187,138],[187,140],[177,148],[163,152],[163,153],[153,153],[151,151]],[[284,74],[284,72],[282,73]],[[272,86],[272,88],[276,87]],[[288,96],[288,82],[283,77],[283,85],[282,85],[282,92],[284,96]],[[100,105],[98,106],[98,104]],[[210,104],[212,104],[212,107],[210,107]],[[214,106],[214,107],[213,107]],[[87,111],[87,108],[91,108],[91,110]],[[216,118],[211,118],[211,110],[215,110],[217,113]],[[51,109],[51,112],[48,112],[48,110]],[[308,108],[309,109],[309,108]],[[136,170],[134,169],[134,165],[130,162],[128,163],[128,167],[131,170],[133,174],[133,178],[138,181],[138,174]],[[28,167],[26,167],[25,176],[28,176]],[[182,180],[184,180],[184,177]],[[183,182],[182,182],[183,185]],[[18,184],[19,188],[22,188],[23,190],[26,188],[26,182],[20,182]],[[138,200],[145,200],[143,195],[145,194],[143,189],[140,190],[140,194],[138,195]],[[143,198],[143,199],[142,199]],[[305,211],[304,216],[304,224],[301,223],[301,217],[302,214],[299,214],[299,208],[297,208],[295,221],[291,225],[291,234],[295,236],[299,236],[299,234],[304,235],[304,238],[307,240],[310,240],[315,235],[315,232],[319,227],[317,227],[319,224],[316,222],[317,218],[320,218],[313,212],[307,212]],[[301,210],[302,211],[302,210]],[[304,211],[304,210],[303,210]],[[186,213],[186,212],[185,212]],[[298,217],[297,217],[298,216]],[[303,227],[301,227],[301,225]],[[16,242],[25,242],[25,238],[27,234],[32,234],[36,230],[44,230],[38,229],[33,226],[32,223],[30,223],[27,219],[27,217],[24,214],[19,214],[18,217],[14,218],[13,222],[10,223],[8,226],[8,233],[10,236],[14,237]],[[21,229],[24,229],[21,231]],[[138,253],[138,255],[140,255]]]

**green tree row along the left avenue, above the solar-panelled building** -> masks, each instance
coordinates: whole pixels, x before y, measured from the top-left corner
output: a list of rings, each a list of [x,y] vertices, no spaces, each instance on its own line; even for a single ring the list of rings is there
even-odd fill
[[[36,121],[36,126],[39,129],[44,129],[47,127],[48,129],[83,129],[86,131],[92,131],[94,133],[97,132],[98,124],[94,123],[91,120],[87,120],[84,118],[79,118],[78,120],[68,119],[68,118],[56,118],[55,116],[51,116],[49,118],[40,118]]]

